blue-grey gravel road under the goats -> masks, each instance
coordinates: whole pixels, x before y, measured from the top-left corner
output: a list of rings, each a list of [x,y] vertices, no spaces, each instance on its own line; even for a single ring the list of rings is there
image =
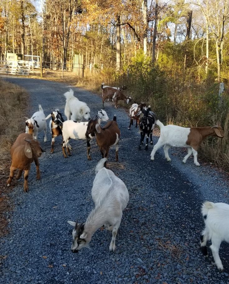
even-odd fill
[[[64,92],[69,85],[31,78],[7,78],[23,86],[31,96],[31,116],[42,105],[45,115],[58,107],[64,114]],[[72,87],[75,96],[87,102],[91,114],[101,108],[101,98]],[[170,150],[171,163],[164,160],[163,149],[150,161],[149,151],[138,151],[139,130],[127,131],[129,118],[123,108],[105,102],[110,119],[117,115],[121,130],[119,160],[125,169],[114,168],[129,190],[130,200],[123,212],[115,253],[109,252],[111,233],[98,230],[90,249],[71,253],[72,227],[67,220],[85,221],[93,208],[91,188],[94,167],[101,154],[95,140],[92,161],[87,160],[86,141],[71,140],[72,156],[64,159],[61,137],[50,154],[51,135],[40,158],[41,180],[36,181],[33,164],[29,191],[23,192],[23,179],[14,188],[15,211],[10,215],[10,233],[0,239],[0,254],[7,256],[0,266],[0,283],[99,284],[99,283],[229,283],[229,246],[222,244],[220,257],[224,272],[207,260],[199,249],[203,229],[200,207],[205,200],[229,203],[228,184],[220,173],[193,157],[182,164],[180,149]],[[23,121],[23,119],[22,119]],[[48,123],[47,123],[48,126]],[[154,137],[154,144],[157,141]],[[115,149],[109,161],[115,162]]]

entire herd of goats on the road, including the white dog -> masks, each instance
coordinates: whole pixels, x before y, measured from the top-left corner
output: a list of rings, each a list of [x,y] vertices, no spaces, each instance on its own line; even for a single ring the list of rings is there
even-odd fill
[[[116,88],[104,86],[103,83],[101,88],[103,107],[106,99],[114,100],[116,108],[118,100],[124,100],[127,104],[132,100],[131,97],[126,97],[122,93],[122,90],[125,90],[126,86]],[[7,186],[10,186],[14,171],[18,168],[19,171],[16,179],[21,177],[22,171],[24,170],[24,192],[27,192],[28,175],[33,161],[36,164],[36,178],[40,179],[38,158],[44,151],[40,147],[37,136],[38,132],[44,130],[44,142],[47,141],[47,119],[51,118],[49,123],[50,132],[52,134],[51,153],[54,152],[55,137],[62,135],[62,151],[65,158],[67,158],[65,149],[67,150],[67,154],[69,156],[71,155],[70,150],[72,148],[69,144],[69,140],[76,139],[87,140],[87,158],[91,160],[90,140],[96,137],[102,159],[95,168],[96,176],[91,192],[95,208],[90,212],[85,223],[78,224],[78,220],[76,222],[68,221],[70,225],[74,226],[71,250],[73,253],[76,253],[87,246],[95,231],[104,225],[107,230],[112,231],[112,240],[109,250],[115,251],[115,239],[121,223],[122,211],[129,201],[129,193],[124,182],[122,182],[120,178],[117,178],[111,170],[106,168],[108,152],[112,146],[116,147],[116,161],[118,161],[120,130],[116,122],[116,116],[113,117],[112,121],[108,121],[109,118],[106,111],[101,110],[98,111],[95,118],[91,119],[89,107],[85,102],[81,102],[74,97],[72,89],[69,89],[69,92],[66,92],[64,96],[66,98],[64,114],[67,117],[67,121],[64,121],[58,109],[52,111],[51,114],[45,117],[41,105],[39,105],[39,111],[35,112],[30,119],[26,120],[26,133],[22,133],[17,137],[10,150],[12,164]],[[184,128],[177,125],[164,126],[158,120],[155,113],[150,110],[150,106],[147,106],[145,103],[139,105],[136,103],[132,104],[129,109],[129,116],[130,125],[128,130],[130,130],[131,125],[133,125],[133,120],[136,120],[136,127],[139,125],[140,128],[141,139],[139,150],[141,150],[145,135],[145,150],[148,149],[149,136],[150,144],[153,144],[152,131],[155,124],[160,127],[160,138],[151,152],[151,160],[154,160],[155,152],[162,146],[164,146],[167,161],[171,161],[168,154],[170,147],[186,147],[188,154],[184,157],[183,163],[186,163],[188,157],[193,154],[194,164],[199,166],[197,150],[201,142],[208,136],[217,136],[219,138],[223,138],[224,136],[222,128],[217,125],[194,128]],[[83,118],[89,121],[82,122]],[[101,121],[108,122],[104,127],[101,127]],[[201,249],[203,255],[208,255],[206,244],[207,240],[211,239],[212,245],[210,248],[215,263],[218,269],[223,270],[218,252],[223,240],[229,242],[229,205],[206,201],[202,205],[202,214],[205,222],[205,229],[201,235]]]

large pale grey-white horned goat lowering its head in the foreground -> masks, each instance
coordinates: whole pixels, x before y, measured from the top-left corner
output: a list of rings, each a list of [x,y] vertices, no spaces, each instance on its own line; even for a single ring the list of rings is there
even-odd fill
[[[115,251],[115,239],[122,220],[122,211],[129,201],[129,193],[124,182],[111,170],[104,168],[106,162],[106,158],[101,159],[95,168],[97,174],[91,192],[95,208],[88,215],[86,222],[78,225],[78,220],[68,221],[74,226],[71,246],[73,253],[88,245],[95,231],[103,225],[108,231],[112,231],[109,250]]]

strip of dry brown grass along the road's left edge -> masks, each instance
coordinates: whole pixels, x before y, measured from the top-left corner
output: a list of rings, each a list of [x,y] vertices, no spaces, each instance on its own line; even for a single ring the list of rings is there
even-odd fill
[[[0,237],[7,232],[6,211],[12,209],[12,201],[6,187],[10,167],[10,147],[17,136],[25,130],[23,116],[28,93],[19,86],[0,79]],[[22,125],[23,123],[23,125]]]

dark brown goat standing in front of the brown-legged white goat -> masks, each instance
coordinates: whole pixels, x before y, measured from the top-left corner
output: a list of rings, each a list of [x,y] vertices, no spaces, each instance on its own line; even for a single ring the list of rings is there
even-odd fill
[[[120,138],[120,130],[116,122],[116,116],[113,117],[112,121],[107,122],[104,127],[101,127],[98,124],[98,119],[91,119],[88,122],[86,135],[93,133],[95,133],[96,142],[99,146],[102,157],[107,158],[110,147],[115,146],[115,159],[118,161],[118,142]]]

